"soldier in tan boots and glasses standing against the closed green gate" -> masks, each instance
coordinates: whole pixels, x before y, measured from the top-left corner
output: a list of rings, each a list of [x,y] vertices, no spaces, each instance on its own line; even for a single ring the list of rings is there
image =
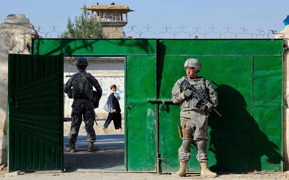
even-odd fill
[[[208,80],[197,76],[197,73],[201,70],[201,63],[197,59],[186,60],[184,67],[187,76],[183,76],[177,80],[172,90],[173,102],[180,103],[181,106],[180,116],[183,134],[183,143],[179,148],[179,162],[181,167],[179,171],[172,174],[177,177],[186,176],[186,165],[191,157],[190,146],[193,138],[197,143],[196,158],[201,165],[201,176],[217,177],[218,175],[211,172],[208,168],[207,153],[208,116],[209,111],[218,104],[217,92]],[[208,107],[202,100],[198,102],[196,107],[193,106],[195,97],[190,90],[182,86],[183,80],[187,80],[196,89],[205,91],[213,106]],[[194,136],[192,136],[193,132]]]

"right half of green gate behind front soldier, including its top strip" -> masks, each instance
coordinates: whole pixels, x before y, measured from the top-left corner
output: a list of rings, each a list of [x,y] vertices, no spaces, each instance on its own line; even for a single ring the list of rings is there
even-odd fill
[[[282,40],[159,40],[157,47],[158,102],[171,98],[174,83],[186,76],[188,58],[202,63],[198,75],[218,92],[217,109],[223,116],[211,112],[208,122],[211,170],[282,170]],[[159,109],[159,172],[174,172],[179,167],[180,108],[164,102]],[[191,150],[188,170],[200,172],[197,149]]]

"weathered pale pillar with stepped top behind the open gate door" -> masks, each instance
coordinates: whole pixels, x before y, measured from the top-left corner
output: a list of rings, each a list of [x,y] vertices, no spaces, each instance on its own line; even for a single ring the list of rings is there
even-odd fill
[[[31,54],[31,39],[38,37],[23,14],[10,14],[0,27],[0,165],[7,164],[8,54]]]

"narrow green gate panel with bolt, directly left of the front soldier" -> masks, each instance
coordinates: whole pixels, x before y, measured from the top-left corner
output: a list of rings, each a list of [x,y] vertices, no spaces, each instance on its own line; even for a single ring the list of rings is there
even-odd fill
[[[178,149],[181,139],[177,131],[180,123],[179,104],[172,102],[172,89],[184,73],[188,56],[157,56],[157,87],[159,94],[159,171],[176,172],[179,169]]]

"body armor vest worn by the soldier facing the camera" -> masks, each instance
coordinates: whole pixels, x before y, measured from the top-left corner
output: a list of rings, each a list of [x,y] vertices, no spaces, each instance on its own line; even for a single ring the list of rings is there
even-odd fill
[[[181,78],[181,81],[183,81],[184,79],[186,79],[191,85],[194,86],[194,88],[199,89],[201,91],[205,91],[207,94],[207,88],[206,88],[206,84],[205,84],[205,79],[202,77],[197,77],[196,79],[190,79],[187,78],[186,76],[184,76],[183,78]],[[180,91],[184,92],[186,91],[187,88],[180,85]],[[208,96],[208,94],[207,94]],[[197,104],[197,107],[193,106],[193,102],[196,98],[194,97],[194,95],[192,95],[191,98],[186,98],[184,99],[182,102],[180,102],[180,107],[181,110],[192,110],[192,109],[199,109],[200,106],[202,105],[202,103],[204,103],[202,100],[200,100]]]

